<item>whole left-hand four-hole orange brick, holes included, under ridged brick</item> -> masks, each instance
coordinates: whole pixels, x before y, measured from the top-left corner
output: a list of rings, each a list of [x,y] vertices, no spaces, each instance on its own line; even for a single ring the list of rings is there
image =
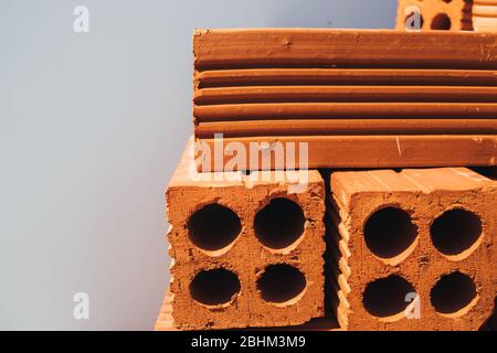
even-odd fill
[[[197,174],[191,149],[192,140],[167,190],[176,325],[278,327],[322,317],[320,174],[309,171],[307,190],[292,193],[274,173],[269,181],[258,172]]]

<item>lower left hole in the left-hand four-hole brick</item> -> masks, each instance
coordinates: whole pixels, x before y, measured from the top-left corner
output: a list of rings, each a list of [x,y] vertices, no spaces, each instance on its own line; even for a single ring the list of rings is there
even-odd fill
[[[224,268],[201,270],[190,284],[190,295],[205,306],[230,302],[240,292],[240,280]]]

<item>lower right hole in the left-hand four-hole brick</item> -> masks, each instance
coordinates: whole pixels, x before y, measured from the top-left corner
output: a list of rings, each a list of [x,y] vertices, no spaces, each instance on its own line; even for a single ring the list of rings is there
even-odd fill
[[[307,286],[306,277],[297,268],[285,265],[269,265],[257,279],[262,299],[269,302],[285,302],[294,299]]]

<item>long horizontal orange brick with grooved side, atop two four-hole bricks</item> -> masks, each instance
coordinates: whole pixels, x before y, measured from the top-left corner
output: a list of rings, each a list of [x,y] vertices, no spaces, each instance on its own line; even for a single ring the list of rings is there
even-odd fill
[[[311,169],[495,165],[496,47],[489,33],[199,30],[194,133],[210,146],[199,170],[226,169],[216,133],[246,151],[308,143]]]

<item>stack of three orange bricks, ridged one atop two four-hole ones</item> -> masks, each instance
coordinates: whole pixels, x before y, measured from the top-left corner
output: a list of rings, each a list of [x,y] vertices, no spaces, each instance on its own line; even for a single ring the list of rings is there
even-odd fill
[[[193,44],[157,330],[491,328],[495,34],[214,30]],[[216,133],[247,151],[308,143],[306,186],[276,159],[233,165]]]

